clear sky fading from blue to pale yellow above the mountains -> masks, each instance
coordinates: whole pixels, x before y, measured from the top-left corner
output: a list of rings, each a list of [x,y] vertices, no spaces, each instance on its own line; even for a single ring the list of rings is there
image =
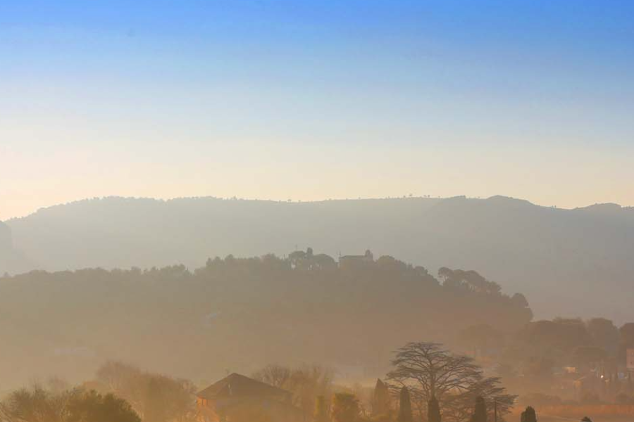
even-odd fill
[[[0,1],[0,219],[99,196],[634,205],[634,2]]]

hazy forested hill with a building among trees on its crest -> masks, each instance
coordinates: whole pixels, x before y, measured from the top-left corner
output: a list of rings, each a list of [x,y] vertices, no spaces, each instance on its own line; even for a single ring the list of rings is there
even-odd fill
[[[318,363],[381,376],[413,340],[451,344],[489,324],[511,332],[531,319],[473,271],[380,257],[339,267],[332,257],[209,260],[142,271],[84,269],[0,279],[3,388],[51,373],[87,379],[106,359],[211,381],[271,363]]]

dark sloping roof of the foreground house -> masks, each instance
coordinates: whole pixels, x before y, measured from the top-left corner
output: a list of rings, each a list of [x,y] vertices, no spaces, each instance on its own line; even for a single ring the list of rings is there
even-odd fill
[[[290,392],[281,388],[261,383],[240,373],[232,373],[217,383],[197,393],[202,399],[218,399],[220,397],[285,397]]]

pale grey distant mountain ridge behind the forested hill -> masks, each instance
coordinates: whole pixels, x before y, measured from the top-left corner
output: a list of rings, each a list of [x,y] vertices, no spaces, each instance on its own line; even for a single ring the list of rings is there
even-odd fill
[[[500,196],[82,200],[0,224],[0,274],[194,268],[216,255],[282,256],[308,246],[335,259],[371,249],[432,272],[475,269],[506,293],[524,293],[538,317],[634,320],[634,209],[614,204],[562,210]]]

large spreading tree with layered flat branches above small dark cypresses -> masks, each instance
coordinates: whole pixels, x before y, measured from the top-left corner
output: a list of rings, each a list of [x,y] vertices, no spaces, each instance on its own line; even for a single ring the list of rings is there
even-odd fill
[[[431,397],[436,397],[442,404],[445,421],[468,420],[478,396],[490,407],[497,402],[502,415],[510,411],[516,398],[506,394],[499,378],[485,378],[473,359],[451,354],[437,343],[409,343],[397,350],[392,365],[394,369],[387,378],[409,386],[418,411],[422,412]]]

